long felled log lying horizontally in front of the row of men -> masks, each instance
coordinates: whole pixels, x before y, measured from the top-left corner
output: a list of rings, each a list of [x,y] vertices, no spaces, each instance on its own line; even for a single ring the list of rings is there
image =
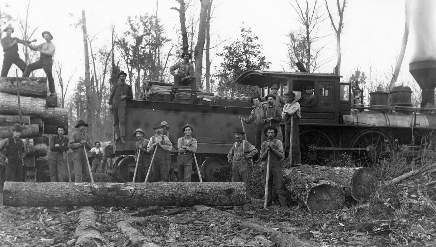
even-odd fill
[[[5,206],[242,206],[244,203],[243,182],[6,182],[3,189]]]

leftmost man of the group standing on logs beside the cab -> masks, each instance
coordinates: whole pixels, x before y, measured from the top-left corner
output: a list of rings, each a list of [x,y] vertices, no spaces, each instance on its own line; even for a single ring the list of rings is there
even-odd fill
[[[251,124],[254,121],[255,127],[254,127],[254,137],[256,141],[256,150],[260,151],[260,145],[262,142],[266,141],[266,137],[263,135],[263,130],[265,129],[265,111],[266,107],[268,106],[262,106],[260,102],[262,101],[262,98],[259,96],[254,96],[251,99],[251,102],[254,104],[254,109],[251,111],[250,117],[248,119],[239,116],[239,119],[242,119],[246,124]]]

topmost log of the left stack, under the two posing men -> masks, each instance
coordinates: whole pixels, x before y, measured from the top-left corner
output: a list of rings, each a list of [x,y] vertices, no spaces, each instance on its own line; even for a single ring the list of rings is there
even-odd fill
[[[45,77],[19,77],[18,82],[20,83],[20,96],[47,96],[47,78]],[[17,78],[1,77],[0,92],[17,95]]]

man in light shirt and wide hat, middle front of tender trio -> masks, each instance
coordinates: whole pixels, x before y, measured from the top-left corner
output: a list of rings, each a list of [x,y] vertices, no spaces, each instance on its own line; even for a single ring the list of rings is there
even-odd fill
[[[152,169],[153,169],[153,182],[170,182],[170,167],[168,162],[171,161],[171,144],[170,139],[162,134],[162,125],[159,122],[154,124],[153,130],[156,134],[150,137],[147,145],[147,151],[151,154],[156,148]]]

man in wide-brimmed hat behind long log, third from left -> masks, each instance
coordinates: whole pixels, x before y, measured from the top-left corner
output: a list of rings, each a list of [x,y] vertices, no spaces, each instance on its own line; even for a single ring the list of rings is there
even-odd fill
[[[79,120],[76,124],[76,128],[78,131],[74,132],[70,136],[70,142],[68,147],[73,150],[73,164],[74,164],[74,173],[75,173],[75,182],[79,183],[85,181],[88,174],[88,155],[85,153],[83,147],[86,148],[86,151],[90,151],[92,148],[92,144],[90,142],[89,135],[85,134],[85,128],[88,127],[88,124],[83,120]]]

